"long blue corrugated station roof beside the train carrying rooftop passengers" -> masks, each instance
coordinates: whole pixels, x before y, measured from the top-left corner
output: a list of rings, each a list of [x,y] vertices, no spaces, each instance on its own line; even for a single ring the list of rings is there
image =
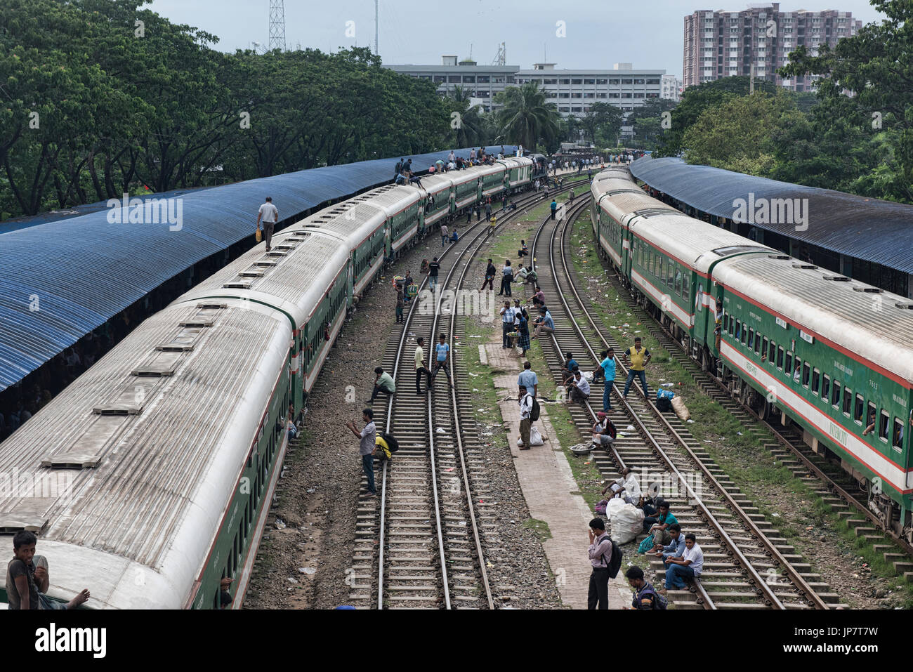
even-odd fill
[[[509,154],[516,151],[511,145],[504,148]],[[447,153],[410,158],[417,171],[425,171]],[[469,150],[457,154],[466,157]],[[177,215],[180,203],[180,226],[168,220],[111,223],[118,209],[100,204],[103,209],[95,212],[45,223],[40,220],[46,215],[39,215],[27,226],[0,234],[0,390],[163,282],[251,236],[266,196],[272,196],[282,220],[390,182],[398,158],[184,192],[171,205],[171,214]]]

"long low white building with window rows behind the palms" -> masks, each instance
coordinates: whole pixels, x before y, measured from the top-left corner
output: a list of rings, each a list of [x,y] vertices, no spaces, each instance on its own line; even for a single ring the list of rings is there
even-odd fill
[[[517,66],[479,66],[475,61],[457,63],[454,56],[445,56],[440,66],[384,67],[429,79],[442,96],[461,86],[471,97],[481,100],[487,111],[497,109],[494,99],[498,91],[535,81],[563,117],[582,117],[593,102],[634,110],[646,100],[659,98],[660,82],[666,74],[666,70],[635,70],[630,63],[615,63],[613,69],[604,70],[556,69],[554,63],[536,63],[532,69],[523,70]]]

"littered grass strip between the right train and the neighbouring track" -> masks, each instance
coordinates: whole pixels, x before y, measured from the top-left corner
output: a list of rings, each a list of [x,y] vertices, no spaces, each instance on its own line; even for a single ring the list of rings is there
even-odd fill
[[[813,486],[793,476],[792,471],[778,462],[764,446],[776,444],[771,433],[760,423],[742,425],[720,404],[700,389],[690,373],[659,344],[645,324],[642,324],[635,310],[619,296],[614,285],[605,275],[603,264],[593,246],[593,229],[588,216],[581,216],[574,226],[568,256],[577,270],[581,284],[593,299],[588,306],[598,315],[604,333],[611,334],[622,350],[633,344],[635,335],[640,336],[645,347],[653,353],[647,367],[647,383],[651,394],[656,394],[658,383],[673,383],[671,389],[687,400],[693,424],[688,431],[708,451],[711,459],[729,475],[732,482],[753,502],[754,506],[776,526],[782,536],[797,547],[812,563],[814,568],[814,543],[819,535],[827,536],[835,530],[849,547],[852,562],[859,572],[870,570],[897,591],[903,606],[913,606],[913,584],[897,577],[894,567],[889,565],[881,552],[872,549],[862,537],[856,537],[842,517],[814,492]],[[586,300],[586,295],[582,294]],[[649,319],[649,318],[646,318]],[[617,348],[616,348],[617,352]],[[621,373],[619,373],[619,378]],[[616,380],[624,383],[624,378]],[[779,494],[778,494],[779,490]],[[785,491],[785,492],[784,492]],[[778,501],[790,493],[791,501],[798,500],[798,509],[784,510]],[[854,516],[854,518],[860,518]],[[827,536],[827,542],[831,538]],[[880,543],[880,541],[879,541]],[[897,549],[897,552],[900,552]],[[811,556],[811,557],[810,557]],[[866,569],[865,564],[868,565]]]

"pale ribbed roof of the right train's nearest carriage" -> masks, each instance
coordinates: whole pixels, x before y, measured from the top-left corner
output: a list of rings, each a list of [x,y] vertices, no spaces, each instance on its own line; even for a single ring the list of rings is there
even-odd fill
[[[895,305],[913,301],[889,292],[857,291],[871,286],[824,279],[840,276],[823,268],[795,268],[802,265],[792,257],[735,257],[721,261],[713,277],[776,310],[792,325],[913,383],[913,310]],[[798,340],[798,329],[791,338]]]

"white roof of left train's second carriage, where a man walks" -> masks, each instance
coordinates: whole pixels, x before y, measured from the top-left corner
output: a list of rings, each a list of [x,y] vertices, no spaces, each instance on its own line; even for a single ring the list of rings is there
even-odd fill
[[[225,295],[258,300],[286,310],[300,328],[345,268],[350,250],[317,231],[299,236],[294,226],[283,229],[273,236],[271,253],[266,243],[258,243],[177,300]],[[262,276],[249,275],[257,273]]]

